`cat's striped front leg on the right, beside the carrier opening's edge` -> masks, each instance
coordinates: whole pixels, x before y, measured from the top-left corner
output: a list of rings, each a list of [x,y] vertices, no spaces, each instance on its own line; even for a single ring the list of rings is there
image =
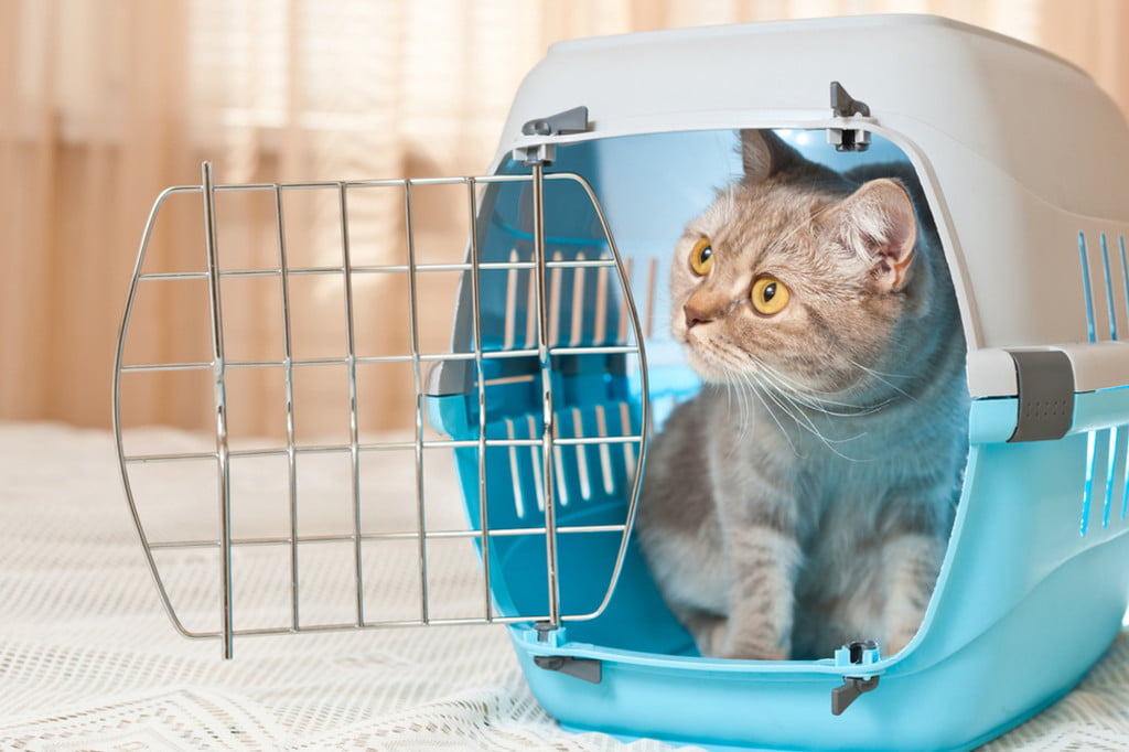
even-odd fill
[[[886,639],[882,647],[886,655],[894,655],[909,645],[921,628],[944,554],[942,541],[925,533],[899,534],[883,546]]]

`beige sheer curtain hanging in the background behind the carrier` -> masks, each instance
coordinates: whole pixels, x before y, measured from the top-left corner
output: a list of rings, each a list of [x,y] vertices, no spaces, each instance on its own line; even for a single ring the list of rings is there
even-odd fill
[[[475,174],[489,163],[522,76],[562,38],[729,21],[863,12],[935,12],[1073,60],[1129,110],[1129,9],[1121,0],[0,0],[0,419],[110,422],[117,326],[149,207],[161,189],[220,183]],[[1038,108],[1038,103],[1033,103]],[[368,254],[402,254],[402,198],[350,195],[350,235]],[[356,203],[356,206],[353,206]],[[421,253],[457,257],[465,196],[421,192]],[[288,194],[290,262],[340,265],[332,191]],[[217,207],[229,269],[277,265],[273,196],[225,194]],[[175,195],[154,237],[151,272],[202,269],[199,196]],[[434,251],[432,251],[434,248]],[[361,251],[358,251],[361,253]],[[446,254],[446,255],[445,255]],[[421,282],[426,336],[441,340],[454,278]],[[295,277],[296,357],[342,351],[340,274]],[[222,290],[233,357],[282,357],[279,280]],[[358,351],[405,344],[403,278],[355,290]],[[209,358],[207,288],[154,281],[139,296],[128,360]],[[390,325],[385,325],[385,323]],[[425,348],[438,349],[439,341]],[[130,374],[130,425],[208,426],[208,374]],[[358,374],[362,428],[410,425],[410,368]],[[229,375],[240,434],[285,430],[280,368]],[[301,429],[347,425],[343,366],[295,377]]]

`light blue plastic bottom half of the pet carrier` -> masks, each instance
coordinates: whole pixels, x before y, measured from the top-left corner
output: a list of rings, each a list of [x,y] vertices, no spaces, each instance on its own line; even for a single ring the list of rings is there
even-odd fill
[[[697,656],[647,593],[633,550],[598,619],[568,622],[549,641],[510,627],[526,679],[574,729],[718,749],[975,747],[1068,692],[1121,628],[1127,593],[1112,575],[1129,557],[1127,394],[1076,395],[1074,428],[1057,441],[973,444],[921,631],[868,667],[881,685],[840,716],[831,693],[861,671]],[[975,404],[973,436],[998,432],[999,416],[1014,428],[1007,402]],[[599,662],[601,681],[542,668],[536,656]]]

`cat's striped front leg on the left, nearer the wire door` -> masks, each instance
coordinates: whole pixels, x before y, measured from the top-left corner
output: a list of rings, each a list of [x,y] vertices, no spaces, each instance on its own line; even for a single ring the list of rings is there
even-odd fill
[[[727,531],[729,614],[721,655],[785,661],[791,653],[796,539],[768,525]]]

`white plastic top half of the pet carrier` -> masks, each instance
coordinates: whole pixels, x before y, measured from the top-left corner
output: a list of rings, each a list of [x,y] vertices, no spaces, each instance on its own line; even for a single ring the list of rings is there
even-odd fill
[[[834,116],[831,81],[870,115]],[[587,132],[522,134],[581,105]],[[519,88],[498,159],[534,142],[758,126],[861,128],[905,151],[946,247],[970,365],[978,350],[1129,331],[1121,113],[1071,64],[963,24],[872,16],[557,44]]]

